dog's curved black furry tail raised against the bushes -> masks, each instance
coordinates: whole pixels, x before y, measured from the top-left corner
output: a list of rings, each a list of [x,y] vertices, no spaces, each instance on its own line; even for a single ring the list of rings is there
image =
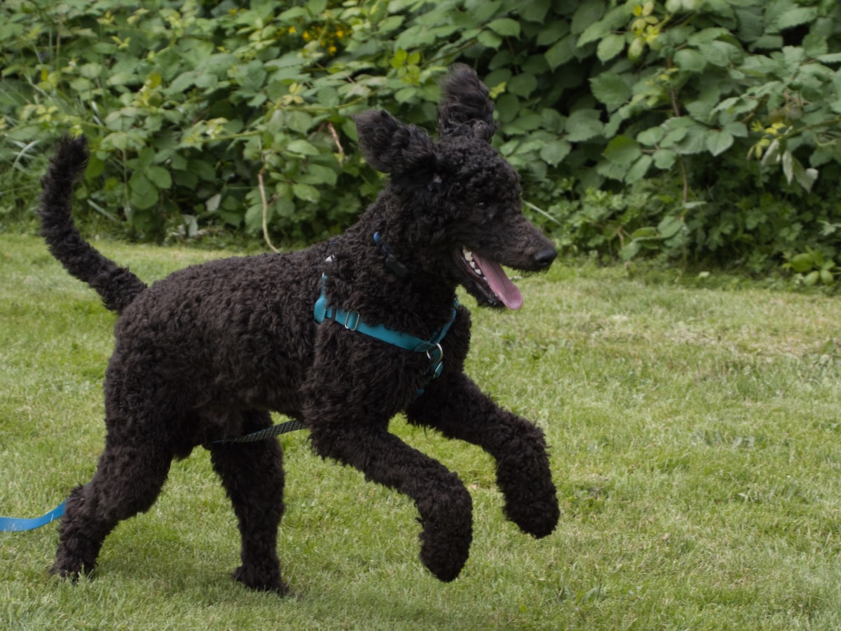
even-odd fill
[[[83,136],[63,136],[58,142],[56,156],[41,180],[41,236],[68,272],[96,289],[108,309],[121,313],[146,285],[127,268],[103,257],[82,238],[73,222],[73,184],[85,171],[89,157]]]

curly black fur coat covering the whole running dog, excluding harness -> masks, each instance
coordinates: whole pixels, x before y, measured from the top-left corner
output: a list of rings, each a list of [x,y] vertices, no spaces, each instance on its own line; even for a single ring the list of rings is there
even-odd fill
[[[206,445],[239,520],[235,578],[285,593],[276,552],[279,444],[213,443],[268,427],[269,411],[304,422],[322,457],[410,496],[422,524],[421,560],[442,581],[456,578],[468,558],[471,500],[457,475],[388,432],[400,411],[410,423],[488,451],[505,516],[535,537],[553,531],[558,501],[542,431],[463,374],[467,309],[458,308],[442,342],[443,374],[429,384],[422,353],[313,320],[326,273],[332,305],[428,338],[451,318],[459,284],[480,305],[516,308],[519,294],[495,273],[497,263],[535,272],[553,261],[551,242],[521,214],[516,172],[489,145],[495,123],[487,88],[473,70],[455,66],[442,92],[437,142],[387,112],[358,117],[363,155],[391,178],[346,233],[300,252],[182,269],[150,287],[79,235],[71,188],[87,163],[87,143],[59,143],[44,178],[43,235],[67,270],[120,316],[105,379],[105,448],[93,479],[67,502],[54,572],[93,570],[108,533],[156,500],[172,459]],[[400,273],[389,261],[399,262]]]

